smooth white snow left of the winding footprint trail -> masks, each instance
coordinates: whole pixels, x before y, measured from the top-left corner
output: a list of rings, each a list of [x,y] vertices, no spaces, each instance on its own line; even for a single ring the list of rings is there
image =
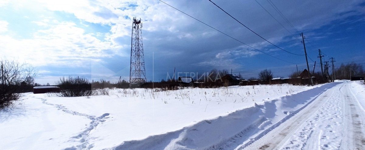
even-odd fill
[[[79,142],[70,139],[89,119],[42,103],[34,94],[0,111],[0,147],[4,150],[61,149]]]

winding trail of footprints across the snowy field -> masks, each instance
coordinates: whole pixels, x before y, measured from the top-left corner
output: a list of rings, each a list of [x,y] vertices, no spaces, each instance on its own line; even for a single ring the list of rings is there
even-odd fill
[[[105,122],[105,119],[109,118],[107,116],[110,115],[109,113],[105,113],[99,117],[96,117],[93,115],[82,114],[80,112],[71,111],[62,104],[52,104],[52,103],[48,103],[46,99],[37,98],[35,96],[32,96],[32,97],[35,99],[40,99],[40,100],[42,100],[43,104],[54,106],[58,110],[61,110],[67,114],[83,116],[83,117],[86,117],[91,120],[91,122],[88,125],[86,125],[88,127],[84,131],[80,132],[76,136],[71,137],[72,139],[70,139],[70,141],[79,141],[79,142],[81,142],[81,144],[72,146],[72,147],[68,147],[65,150],[89,150],[89,149],[91,149],[93,147],[93,144],[89,143],[89,140],[91,139],[91,137],[89,137],[90,132],[93,129],[95,129],[95,127],[97,127],[100,123]]]

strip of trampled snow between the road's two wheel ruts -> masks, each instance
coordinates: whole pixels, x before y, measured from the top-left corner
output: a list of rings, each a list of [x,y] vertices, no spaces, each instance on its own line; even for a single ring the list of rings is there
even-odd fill
[[[306,120],[306,125],[297,134],[293,134],[292,140],[287,141],[283,149],[339,149],[342,140],[340,132],[343,128],[341,94],[333,93],[329,100],[318,109],[313,118]],[[300,128],[299,128],[300,129]],[[334,131],[336,130],[336,131]]]

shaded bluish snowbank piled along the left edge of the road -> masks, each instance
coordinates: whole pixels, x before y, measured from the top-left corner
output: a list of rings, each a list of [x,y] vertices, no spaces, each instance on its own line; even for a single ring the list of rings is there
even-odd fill
[[[333,82],[304,92],[265,101],[225,116],[200,121],[192,126],[142,140],[124,141],[104,150],[225,149],[241,143],[249,145],[285,122],[315,100],[318,95],[341,82]],[[243,145],[243,147],[245,147]]]

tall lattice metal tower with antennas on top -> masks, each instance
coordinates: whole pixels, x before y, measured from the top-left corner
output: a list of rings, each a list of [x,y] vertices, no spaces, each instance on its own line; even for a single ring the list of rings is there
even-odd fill
[[[141,19],[133,18],[132,23],[132,45],[131,45],[131,69],[129,73],[130,83],[146,82],[145,56],[142,44],[142,23]]]

